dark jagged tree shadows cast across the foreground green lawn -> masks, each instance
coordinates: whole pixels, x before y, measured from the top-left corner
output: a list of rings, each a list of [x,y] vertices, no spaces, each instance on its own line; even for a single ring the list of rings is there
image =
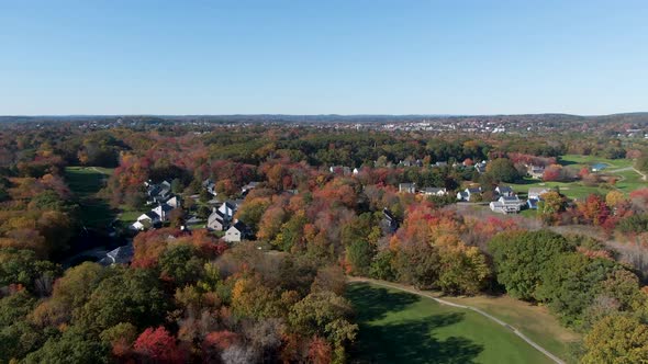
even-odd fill
[[[383,325],[371,321],[390,311],[404,310],[421,297],[392,293],[368,284],[353,284],[347,297],[354,303],[360,326],[351,350],[353,363],[473,363],[483,346],[460,337],[435,338],[435,330],[463,320],[463,312],[431,315],[417,320]]]

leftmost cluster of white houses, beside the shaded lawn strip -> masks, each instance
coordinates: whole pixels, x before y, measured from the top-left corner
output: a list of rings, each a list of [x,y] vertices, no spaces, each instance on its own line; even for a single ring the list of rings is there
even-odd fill
[[[142,214],[131,225],[131,229],[142,231],[152,227],[160,226],[169,220],[170,213],[181,207],[180,197],[171,192],[171,184],[168,181],[161,183],[144,182],[146,187],[146,205],[154,206],[149,212]]]

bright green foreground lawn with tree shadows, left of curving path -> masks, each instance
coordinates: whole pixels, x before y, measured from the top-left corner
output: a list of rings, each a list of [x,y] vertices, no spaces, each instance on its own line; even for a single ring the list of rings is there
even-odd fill
[[[369,283],[350,283],[346,296],[360,328],[355,363],[551,363],[472,310]]]

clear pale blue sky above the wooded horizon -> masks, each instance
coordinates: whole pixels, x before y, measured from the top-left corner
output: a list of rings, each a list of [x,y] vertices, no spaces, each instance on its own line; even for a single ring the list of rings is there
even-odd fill
[[[0,0],[0,114],[648,111],[648,1]]]

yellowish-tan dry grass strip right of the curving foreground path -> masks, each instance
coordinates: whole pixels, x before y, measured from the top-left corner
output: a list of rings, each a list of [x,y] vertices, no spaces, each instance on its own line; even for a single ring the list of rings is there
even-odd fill
[[[560,325],[546,307],[534,306],[509,296],[489,297],[443,297],[446,300],[468,305],[515,327],[529,339],[538,343],[568,363],[576,363],[571,357],[570,346],[581,335]]]

